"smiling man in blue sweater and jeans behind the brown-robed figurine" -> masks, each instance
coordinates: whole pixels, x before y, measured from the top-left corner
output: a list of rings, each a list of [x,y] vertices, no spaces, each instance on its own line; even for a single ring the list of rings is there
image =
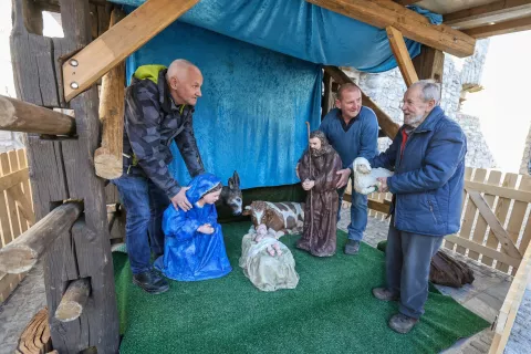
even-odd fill
[[[352,83],[341,85],[335,100],[334,108],[326,114],[321,123],[320,131],[326,135],[332,147],[341,157],[343,168],[337,171],[340,180],[337,192],[341,204],[346,189],[351,165],[356,157],[372,159],[377,154],[378,122],[371,108],[362,106],[362,91]],[[348,241],[345,246],[346,254],[357,254],[360,241],[367,226],[367,196],[357,194],[352,188],[351,223],[348,225]]]

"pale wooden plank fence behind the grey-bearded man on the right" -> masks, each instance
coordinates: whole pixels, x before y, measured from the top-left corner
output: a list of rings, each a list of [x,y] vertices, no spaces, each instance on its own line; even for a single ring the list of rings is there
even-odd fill
[[[369,215],[383,219],[391,194],[369,196]],[[444,247],[516,274],[531,240],[531,177],[468,168],[461,207],[461,229]]]

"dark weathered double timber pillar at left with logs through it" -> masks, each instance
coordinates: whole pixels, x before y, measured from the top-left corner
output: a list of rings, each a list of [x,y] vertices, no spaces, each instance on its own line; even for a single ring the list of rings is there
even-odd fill
[[[11,49],[15,53],[13,64],[18,61],[13,67],[18,96],[40,106],[66,107],[62,90],[58,90],[62,86],[58,69],[61,58],[67,58],[92,40],[88,0],[60,0],[64,38],[53,40],[28,34],[22,17],[24,1],[13,0]],[[35,43],[41,46],[32,49]],[[64,200],[77,200],[84,206],[73,227],[60,230],[43,256],[46,302],[52,314],[50,334],[59,353],[80,353],[90,347],[97,353],[117,353],[118,315],[105,185],[95,175],[93,162],[101,131],[96,87],[90,86],[69,105],[75,116],[74,138],[27,136],[37,220]],[[75,321],[62,322],[53,314],[69,284],[79,284],[81,279],[90,280],[91,285],[86,300],[79,299],[84,302],[83,311]]]

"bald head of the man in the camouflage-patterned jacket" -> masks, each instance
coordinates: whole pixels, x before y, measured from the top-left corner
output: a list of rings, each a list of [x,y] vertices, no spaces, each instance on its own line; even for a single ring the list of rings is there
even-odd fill
[[[166,81],[176,104],[196,105],[201,96],[201,71],[184,59],[177,59],[169,64]]]

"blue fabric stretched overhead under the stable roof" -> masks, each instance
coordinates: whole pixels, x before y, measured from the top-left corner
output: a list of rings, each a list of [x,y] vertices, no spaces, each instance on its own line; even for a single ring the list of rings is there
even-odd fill
[[[113,0],[139,6],[144,0]],[[433,23],[442,18],[412,7]],[[201,0],[179,21],[316,64],[366,72],[395,67],[385,30],[322,9],[304,0]],[[416,56],[420,44],[406,40]]]

